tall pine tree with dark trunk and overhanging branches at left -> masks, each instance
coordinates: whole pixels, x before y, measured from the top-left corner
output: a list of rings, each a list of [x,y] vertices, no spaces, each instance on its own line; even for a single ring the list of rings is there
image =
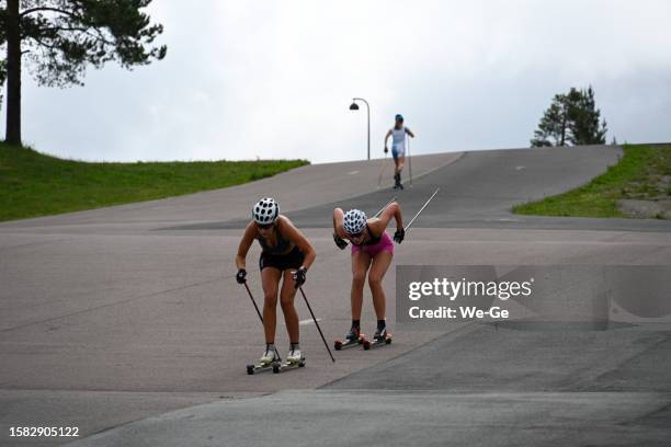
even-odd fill
[[[7,141],[21,144],[23,59],[41,85],[81,84],[86,67],[116,60],[124,68],[166,56],[150,47],[163,32],[140,10],[151,0],[0,1],[0,80],[7,76]]]

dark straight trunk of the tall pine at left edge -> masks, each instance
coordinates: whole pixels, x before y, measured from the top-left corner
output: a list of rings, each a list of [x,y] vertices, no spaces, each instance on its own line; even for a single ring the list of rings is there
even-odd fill
[[[7,2],[7,142],[21,145],[21,26],[19,0]]]

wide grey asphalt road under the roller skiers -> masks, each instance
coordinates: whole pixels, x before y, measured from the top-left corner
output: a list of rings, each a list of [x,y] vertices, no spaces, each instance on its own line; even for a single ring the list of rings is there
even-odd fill
[[[412,187],[400,193],[377,188],[379,161],[316,165],[229,190],[2,224],[0,444],[70,440],[7,436],[11,426],[56,425],[80,427],[77,444],[91,446],[666,445],[666,321],[607,331],[454,324],[396,332],[389,347],[336,353],[331,364],[299,301],[308,366],[254,377],[243,368],[262,335],[232,257],[259,196],[276,196],[315,244],[305,290],[332,340],[349,326],[350,275],[328,230],[334,205],[374,213],[396,194],[409,216],[440,186],[397,247],[398,264],[669,265],[670,222],[508,211],[585,183],[619,153],[418,157]],[[259,299],[253,268],[250,277]],[[390,270],[385,278],[391,326],[395,277]],[[373,328],[366,295],[363,330]],[[280,325],[280,346],[285,337]]]

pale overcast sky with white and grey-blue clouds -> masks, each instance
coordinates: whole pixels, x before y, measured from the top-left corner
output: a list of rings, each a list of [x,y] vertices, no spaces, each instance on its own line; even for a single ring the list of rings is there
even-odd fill
[[[553,95],[589,84],[609,141],[671,141],[668,0],[153,3],[167,58],[65,90],[26,73],[25,142],[83,160],[353,160],[363,96],[373,157],[396,113],[412,153],[526,147]]]

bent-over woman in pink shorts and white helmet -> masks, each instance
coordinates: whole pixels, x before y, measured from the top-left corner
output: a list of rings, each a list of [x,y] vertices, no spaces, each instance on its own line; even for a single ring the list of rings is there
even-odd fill
[[[401,243],[406,231],[401,209],[396,202],[391,202],[379,217],[371,219],[367,219],[366,215],[359,209],[351,209],[348,213],[343,213],[341,208],[333,209],[336,244],[339,249],[344,250],[348,245],[345,239],[352,243],[352,326],[345,335],[346,343],[359,340],[361,334],[361,310],[366,274],[377,317],[374,340],[387,339],[386,297],[382,283],[394,257],[394,243],[386,232],[393,218],[396,220],[394,240]]]

